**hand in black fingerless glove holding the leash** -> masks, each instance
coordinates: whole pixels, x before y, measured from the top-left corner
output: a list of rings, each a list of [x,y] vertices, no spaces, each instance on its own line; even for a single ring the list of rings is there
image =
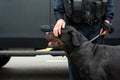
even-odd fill
[[[104,23],[101,25],[100,33],[102,35],[106,35],[110,32],[112,32],[111,24],[108,20],[105,20]]]

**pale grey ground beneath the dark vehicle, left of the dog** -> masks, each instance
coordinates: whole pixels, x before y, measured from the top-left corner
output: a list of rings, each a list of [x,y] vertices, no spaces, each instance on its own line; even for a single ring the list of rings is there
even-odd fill
[[[0,80],[68,80],[66,57],[12,57],[0,70]]]

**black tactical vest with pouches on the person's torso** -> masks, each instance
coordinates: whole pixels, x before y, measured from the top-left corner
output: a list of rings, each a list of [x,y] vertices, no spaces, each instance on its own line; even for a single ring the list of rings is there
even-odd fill
[[[63,3],[71,21],[92,24],[104,16],[108,0],[63,0]]]

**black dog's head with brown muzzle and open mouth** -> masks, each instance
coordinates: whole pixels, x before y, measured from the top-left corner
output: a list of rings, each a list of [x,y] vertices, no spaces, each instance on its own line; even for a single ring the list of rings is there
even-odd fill
[[[46,35],[46,39],[50,42],[48,46],[54,48],[73,48],[75,46],[80,46],[82,41],[82,34],[79,33],[72,26],[66,26],[65,29],[62,29],[61,35],[55,37],[52,32],[49,32]]]

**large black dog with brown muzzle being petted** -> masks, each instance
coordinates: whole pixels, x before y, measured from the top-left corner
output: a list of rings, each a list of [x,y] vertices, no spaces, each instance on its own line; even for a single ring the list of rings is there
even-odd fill
[[[120,80],[120,46],[90,43],[71,26],[66,26],[58,38],[51,32],[46,39],[71,57],[80,80]]]

